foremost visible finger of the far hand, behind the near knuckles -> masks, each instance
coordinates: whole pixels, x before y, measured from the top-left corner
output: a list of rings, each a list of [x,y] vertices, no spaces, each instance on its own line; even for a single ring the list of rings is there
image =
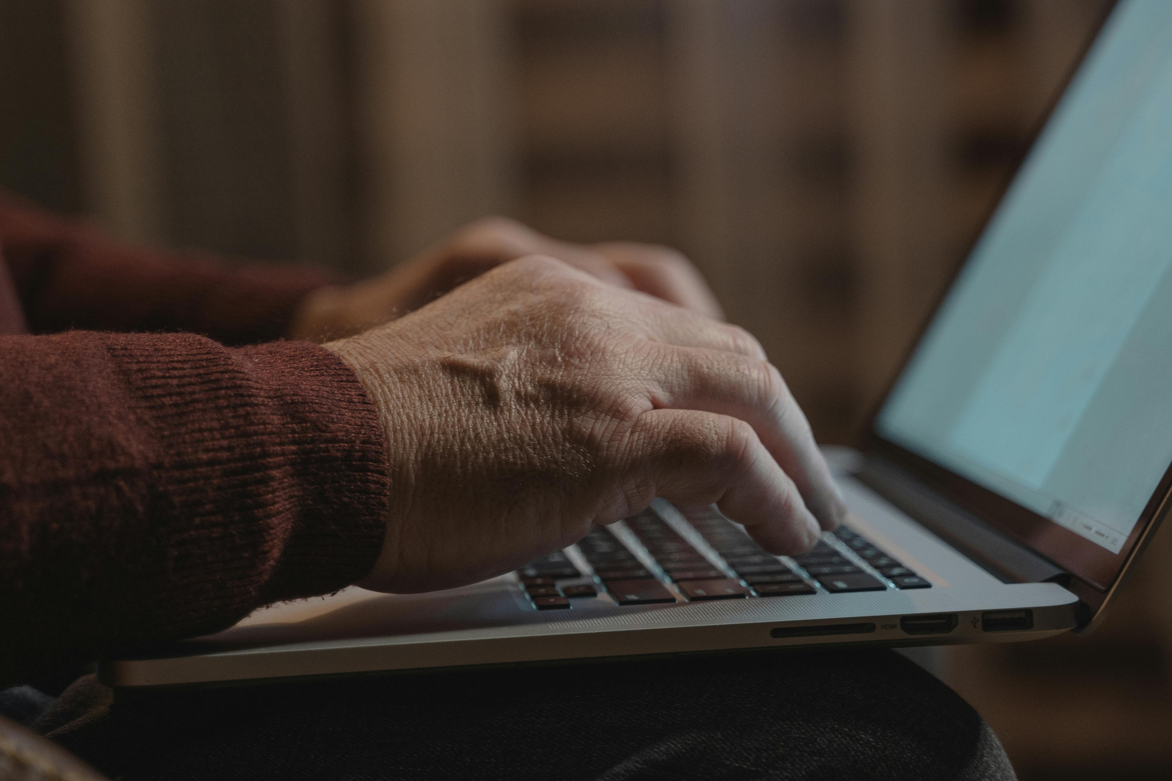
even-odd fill
[[[714,320],[724,320],[704,278],[674,249],[634,241],[609,241],[592,247],[627,275],[636,290],[670,301]]]

